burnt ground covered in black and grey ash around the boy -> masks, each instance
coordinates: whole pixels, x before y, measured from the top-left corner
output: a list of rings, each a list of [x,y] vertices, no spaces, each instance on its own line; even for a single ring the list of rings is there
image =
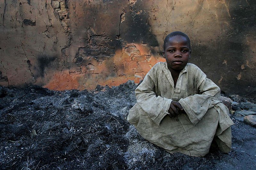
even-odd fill
[[[0,86],[0,169],[256,169],[256,128],[232,116],[228,154],[170,154],[144,140],[127,122],[136,86],[128,81],[94,92]]]

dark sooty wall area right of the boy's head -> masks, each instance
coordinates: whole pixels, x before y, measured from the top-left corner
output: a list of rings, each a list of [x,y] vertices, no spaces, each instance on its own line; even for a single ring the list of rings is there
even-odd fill
[[[192,41],[191,63],[198,65],[221,90],[247,97],[256,97],[255,64],[246,37],[256,37],[256,4],[251,1],[230,1],[230,25],[216,40],[205,44]],[[242,65],[244,65],[242,67]],[[241,77],[240,77],[241,76]]]

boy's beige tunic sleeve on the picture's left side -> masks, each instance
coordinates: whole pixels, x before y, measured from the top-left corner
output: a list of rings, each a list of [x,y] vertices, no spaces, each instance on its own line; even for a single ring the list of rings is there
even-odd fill
[[[142,83],[135,89],[135,96],[140,107],[148,114],[157,125],[160,124],[172,102],[156,95],[157,75],[156,69],[152,68],[145,76]]]

